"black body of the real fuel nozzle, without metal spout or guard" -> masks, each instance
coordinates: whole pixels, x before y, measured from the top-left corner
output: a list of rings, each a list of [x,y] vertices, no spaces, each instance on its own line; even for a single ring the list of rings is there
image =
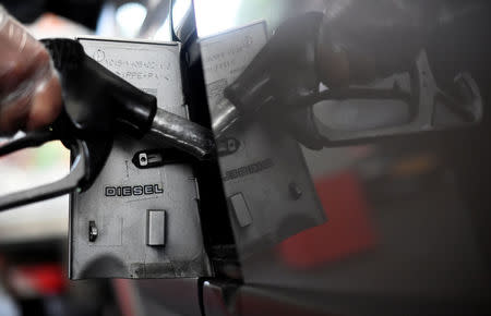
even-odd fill
[[[146,94],[85,54],[71,39],[45,39],[60,74],[64,111],[76,136],[101,136],[123,129],[143,136],[157,111],[157,99]]]

